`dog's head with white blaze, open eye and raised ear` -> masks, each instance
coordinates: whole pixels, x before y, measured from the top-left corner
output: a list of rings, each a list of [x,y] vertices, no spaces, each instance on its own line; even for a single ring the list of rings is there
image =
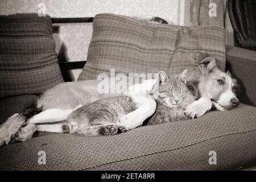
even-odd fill
[[[209,97],[217,103],[218,107],[222,107],[221,110],[230,110],[240,104],[237,98],[239,91],[237,80],[231,76],[229,71],[226,73],[220,71],[213,57],[201,56],[197,67],[201,72],[198,83],[200,96]]]

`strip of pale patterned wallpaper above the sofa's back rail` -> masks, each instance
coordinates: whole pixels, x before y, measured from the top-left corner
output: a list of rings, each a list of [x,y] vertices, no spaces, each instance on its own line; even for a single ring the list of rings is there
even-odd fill
[[[52,17],[94,16],[98,13],[154,15],[175,24],[179,6],[179,0],[1,0],[0,13],[36,13],[39,3],[46,4],[46,13]]]

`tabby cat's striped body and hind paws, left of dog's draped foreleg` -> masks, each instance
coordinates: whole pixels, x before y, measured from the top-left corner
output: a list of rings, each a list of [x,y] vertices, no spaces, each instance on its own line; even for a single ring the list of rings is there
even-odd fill
[[[62,126],[63,133],[115,135],[127,131],[119,119],[137,106],[129,96],[104,98],[73,111]]]

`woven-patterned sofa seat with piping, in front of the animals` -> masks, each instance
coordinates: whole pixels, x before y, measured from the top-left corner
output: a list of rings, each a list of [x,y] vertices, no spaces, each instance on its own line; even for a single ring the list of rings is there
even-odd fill
[[[256,163],[256,108],[143,126],[110,137],[52,134],[0,148],[0,169],[234,169]],[[46,165],[38,152],[46,152]],[[209,165],[209,151],[217,164]]]

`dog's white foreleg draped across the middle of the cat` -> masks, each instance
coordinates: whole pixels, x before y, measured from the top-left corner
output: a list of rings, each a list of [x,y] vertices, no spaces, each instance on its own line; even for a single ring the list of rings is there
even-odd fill
[[[138,109],[120,118],[120,125],[125,126],[127,129],[135,129],[142,125],[142,123],[154,114],[156,109],[155,100],[148,100],[144,102]]]

